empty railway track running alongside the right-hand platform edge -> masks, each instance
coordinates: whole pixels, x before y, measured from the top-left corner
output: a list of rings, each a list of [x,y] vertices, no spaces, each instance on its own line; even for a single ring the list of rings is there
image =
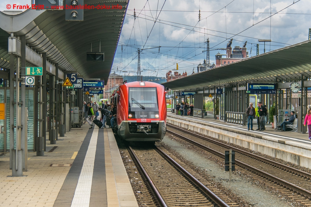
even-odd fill
[[[265,182],[268,186],[275,188],[281,193],[305,205],[311,205],[311,174],[226,145],[214,139],[191,133],[188,130],[183,130],[170,124],[167,124],[167,132],[187,142],[191,142],[221,157],[223,160],[225,157],[225,150],[234,150],[236,169],[238,165],[246,169],[247,172],[253,173],[252,176],[254,176],[254,178],[261,182]],[[181,134],[183,133],[186,133],[187,137],[185,137],[186,135],[182,136]]]

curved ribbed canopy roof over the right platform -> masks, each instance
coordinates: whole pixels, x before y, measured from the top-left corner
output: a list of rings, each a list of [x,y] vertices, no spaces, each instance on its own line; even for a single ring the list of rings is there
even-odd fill
[[[311,40],[162,83],[172,90],[276,83],[311,76]]]

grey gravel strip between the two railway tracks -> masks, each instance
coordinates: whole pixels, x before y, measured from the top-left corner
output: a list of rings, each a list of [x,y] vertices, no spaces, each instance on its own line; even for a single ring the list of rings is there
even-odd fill
[[[267,207],[287,207],[296,206],[283,196],[270,193],[262,187],[258,187],[252,179],[232,174],[232,180],[229,181],[229,172],[221,169],[219,164],[203,157],[193,150],[187,149],[182,143],[177,142],[174,138],[165,136],[160,146],[174,149],[183,159],[193,163],[194,166],[205,171],[215,178],[215,182],[220,183],[239,197],[243,198],[250,206],[267,206]],[[236,172],[237,173],[237,172]]]

